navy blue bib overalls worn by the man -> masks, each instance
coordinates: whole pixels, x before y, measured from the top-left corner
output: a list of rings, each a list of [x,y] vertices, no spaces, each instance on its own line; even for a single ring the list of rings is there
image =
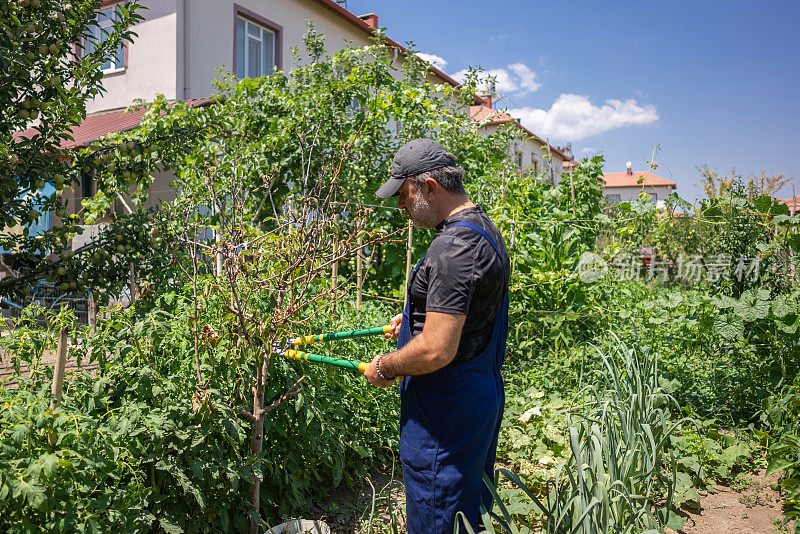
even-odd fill
[[[482,228],[464,221],[448,228],[454,226],[480,233],[502,260],[500,249]],[[411,341],[409,289],[422,260],[406,288],[398,349]],[[450,534],[459,511],[477,529],[481,502],[489,508],[491,494],[484,487],[483,473],[490,479],[494,474],[505,403],[500,366],[507,331],[508,291],[491,339],[479,356],[426,375],[407,376],[400,383],[400,461],[409,534]]]

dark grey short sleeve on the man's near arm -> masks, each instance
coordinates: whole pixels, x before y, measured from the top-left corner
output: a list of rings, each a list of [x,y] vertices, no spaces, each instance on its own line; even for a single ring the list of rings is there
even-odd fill
[[[456,236],[437,236],[426,263],[426,311],[467,315],[475,287],[475,253],[470,245]]]

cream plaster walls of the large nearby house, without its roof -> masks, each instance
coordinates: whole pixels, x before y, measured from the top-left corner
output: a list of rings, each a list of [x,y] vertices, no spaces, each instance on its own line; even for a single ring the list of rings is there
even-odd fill
[[[304,50],[306,20],[324,35],[328,52],[371,43],[368,36],[311,0],[143,0],[146,20],[134,26],[138,34],[127,46],[127,67],[103,78],[104,95],[87,112],[129,106],[135,99],[205,98],[213,93],[216,69],[234,68],[234,4],[281,26],[283,67],[294,62],[292,48]],[[301,54],[301,62],[307,61]],[[399,63],[396,63],[399,66]],[[433,83],[441,83],[430,76]]]

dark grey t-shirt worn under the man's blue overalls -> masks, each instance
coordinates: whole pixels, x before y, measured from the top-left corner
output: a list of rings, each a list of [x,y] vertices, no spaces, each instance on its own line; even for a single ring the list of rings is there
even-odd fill
[[[450,228],[459,221],[485,230],[503,257],[474,229]],[[500,231],[481,208],[467,208],[442,221],[411,282],[411,333],[422,332],[427,311],[466,315],[454,361],[478,356],[491,337],[508,288],[510,265]]]

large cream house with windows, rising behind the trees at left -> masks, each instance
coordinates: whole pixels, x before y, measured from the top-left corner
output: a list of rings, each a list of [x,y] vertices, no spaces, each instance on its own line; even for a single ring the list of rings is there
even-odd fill
[[[113,17],[119,1],[105,0]],[[138,37],[105,65],[107,92],[92,102],[89,113],[152,100],[206,98],[213,93],[215,70],[224,65],[239,77],[256,77],[292,62],[291,50],[303,49],[306,20],[325,36],[325,48],[369,44],[378,16],[357,17],[333,0],[142,0],[149,8],[134,27]],[[405,48],[392,39],[399,52]],[[438,69],[432,80],[458,85]]]

